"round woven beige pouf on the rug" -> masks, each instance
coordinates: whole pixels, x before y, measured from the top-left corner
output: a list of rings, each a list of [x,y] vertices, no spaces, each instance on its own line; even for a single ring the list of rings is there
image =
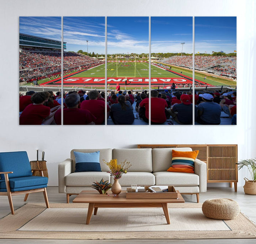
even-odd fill
[[[206,200],[202,205],[203,214],[216,220],[232,220],[240,213],[238,203],[232,199],[214,198]]]

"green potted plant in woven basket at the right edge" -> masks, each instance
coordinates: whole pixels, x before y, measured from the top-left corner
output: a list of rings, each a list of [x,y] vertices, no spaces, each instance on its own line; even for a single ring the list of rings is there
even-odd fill
[[[237,163],[238,170],[246,166],[251,174],[252,180],[244,178],[244,192],[245,194],[256,195],[256,158],[255,159],[244,159]]]

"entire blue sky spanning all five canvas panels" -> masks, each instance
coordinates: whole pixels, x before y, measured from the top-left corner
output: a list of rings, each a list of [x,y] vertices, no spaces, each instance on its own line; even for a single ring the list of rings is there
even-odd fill
[[[105,53],[105,17],[63,17],[66,51]],[[61,39],[60,17],[20,17],[20,32]],[[148,53],[148,17],[107,17],[107,52]],[[192,53],[192,17],[151,17],[151,52]],[[195,52],[236,50],[236,17],[195,17]]]

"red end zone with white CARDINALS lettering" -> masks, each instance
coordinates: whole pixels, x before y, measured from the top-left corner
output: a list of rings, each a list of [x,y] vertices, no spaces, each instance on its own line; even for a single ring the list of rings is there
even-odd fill
[[[107,84],[110,85],[116,85],[119,83],[119,85],[125,85],[125,81],[127,80],[127,85],[130,86],[136,86],[136,85],[149,85],[149,79],[148,78],[119,78],[119,77],[112,77],[107,78]],[[199,82],[199,81],[198,81]],[[93,78],[84,78],[84,77],[68,77],[64,78],[63,80],[64,85],[99,85],[104,86],[105,85],[105,78],[102,77],[93,77]],[[165,84],[166,87],[171,86],[172,83],[175,83],[176,85],[179,84],[192,84],[192,81],[190,81],[187,78],[151,78],[151,85],[163,85]],[[197,83],[197,81],[196,81]],[[205,84],[199,82],[200,85],[208,85],[212,86],[210,84]],[[54,81],[48,81],[41,85],[60,85],[61,80],[55,79]]]

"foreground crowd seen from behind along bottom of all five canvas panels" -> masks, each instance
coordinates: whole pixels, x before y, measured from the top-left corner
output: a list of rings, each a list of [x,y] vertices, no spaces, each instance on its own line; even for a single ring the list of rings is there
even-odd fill
[[[193,105],[193,97],[195,104]],[[69,91],[62,94],[52,91],[27,91],[20,94],[20,124],[105,124],[105,92]],[[149,123],[149,94],[133,90],[108,91],[107,118],[114,124],[133,124],[135,118]],[[235,91],[151,90],[151,124],[220,124],[221,115],[236,124]],[[134,113],[134,108],[138,112]]]

